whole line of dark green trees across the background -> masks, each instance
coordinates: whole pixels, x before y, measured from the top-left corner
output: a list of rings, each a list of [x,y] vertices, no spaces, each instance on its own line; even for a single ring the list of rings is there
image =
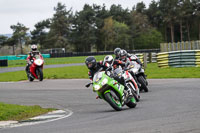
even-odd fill
[[[121,5],[85,4],[73,12],[57,3],[52,18],[35,24],[35,29],[21,23],[10,26],[11,38],[0,36],[0,46],[39,44],[41,49],[66,48],[66,51],[112,51],[159,48],[162,42],[200,40],[199,0],[153,0],[131,10]],[[21,50],[23,53],[23,50]]]

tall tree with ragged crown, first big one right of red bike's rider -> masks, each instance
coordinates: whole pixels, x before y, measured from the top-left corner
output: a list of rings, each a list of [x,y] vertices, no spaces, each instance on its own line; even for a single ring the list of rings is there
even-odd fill
[[[64,4],[58,3],[57,7],[54,8],[56,13],[53,15],[52,23],[50,25],[50,31],[48,34],[48,40],[46,47],[67,47],[69,45],[69,34],[71,27],[71,16],[72,12],[66,10]]]

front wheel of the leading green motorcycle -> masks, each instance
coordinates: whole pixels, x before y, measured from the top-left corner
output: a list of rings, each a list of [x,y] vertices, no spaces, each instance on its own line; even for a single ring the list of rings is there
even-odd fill
[[[116,99],[115,97],[117,95],[113,95],[113,93],[115,94],[114,91],[110,90],[111,92],[107,92],[105,93],[105,100],[110,104],[111,107],[113,107],[113,109],[115,109],[116,111],[121,111],[122,110],[122,105],[120,102],[120,99]]]

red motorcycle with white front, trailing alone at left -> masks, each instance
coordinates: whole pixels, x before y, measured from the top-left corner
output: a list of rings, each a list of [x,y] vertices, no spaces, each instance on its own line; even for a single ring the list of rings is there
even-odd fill
[[[29,72],[27,74],[28,80],[33,81],[35,78],[39,79],[39,81],[43,80],[43,64],[44,59],[41,54],[35,55],[31,59],[32,64],[29,67]]]

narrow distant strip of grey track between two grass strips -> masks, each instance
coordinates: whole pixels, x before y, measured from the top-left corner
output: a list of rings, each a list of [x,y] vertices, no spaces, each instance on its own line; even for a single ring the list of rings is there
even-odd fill
[[[68,66],[80,66],[80,65],[85,65],[84,63],[74,63],[74,64],[56,64],[56,65],[44,65],[44,68],[56,68],[56,67],[68,67]],[[15,71],[25,71],[25,66],[24,67],[4,67],[0,68],[0,73],[5,73],[5,72],[15,72]]]

